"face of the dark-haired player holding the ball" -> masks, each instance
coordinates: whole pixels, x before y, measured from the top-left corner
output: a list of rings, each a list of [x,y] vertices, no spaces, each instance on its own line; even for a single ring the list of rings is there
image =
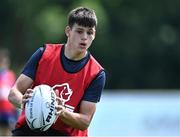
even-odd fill
[[[95,33],[95,27],[83,27],[78,24],[74,24],[71,28],[69,26],[66,27],[69,44],[77,52],[86,52],[95,38]]]

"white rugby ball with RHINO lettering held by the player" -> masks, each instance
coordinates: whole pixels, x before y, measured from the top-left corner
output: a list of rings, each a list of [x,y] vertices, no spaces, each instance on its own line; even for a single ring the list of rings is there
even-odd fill
[[[46,131],[56,120],[56,94],[48,85],[33,89],[32,97],[25,105],[25,118],[32,130]]]

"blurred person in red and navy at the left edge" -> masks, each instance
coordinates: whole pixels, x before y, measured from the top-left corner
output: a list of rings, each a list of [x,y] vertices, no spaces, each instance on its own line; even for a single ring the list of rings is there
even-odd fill
[[[15,82],[15,73],[9,69],[10,58],[7,49],[0,49],[0,136],[11,135],[15,123],[16,109],[8,101],[9,91]]]

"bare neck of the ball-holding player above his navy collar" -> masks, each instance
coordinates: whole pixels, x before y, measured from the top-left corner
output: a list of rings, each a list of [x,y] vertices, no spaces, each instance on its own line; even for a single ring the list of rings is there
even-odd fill
[[[84,58],[87,55],[87,51],[86,52],[76,52],[74,49],[72,49],[70,47],[70,45],[65,45],[64,47],[64,55],[70,59],[70,60],[81,60],[82,58]]]

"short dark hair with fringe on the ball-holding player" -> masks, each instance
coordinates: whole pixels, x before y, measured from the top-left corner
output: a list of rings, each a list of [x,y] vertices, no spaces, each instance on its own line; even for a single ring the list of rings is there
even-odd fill
[[[74,24],[84,27],[96,27],[97,17],[95,11],[85,7],[78,7],[70,11],[68,16],[68,25],[73,27]]]

